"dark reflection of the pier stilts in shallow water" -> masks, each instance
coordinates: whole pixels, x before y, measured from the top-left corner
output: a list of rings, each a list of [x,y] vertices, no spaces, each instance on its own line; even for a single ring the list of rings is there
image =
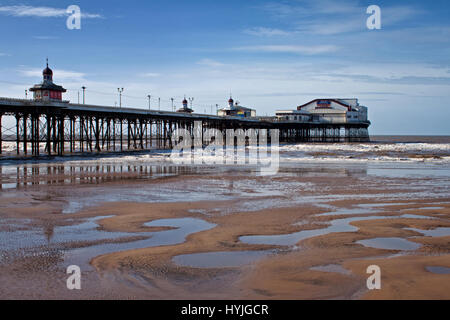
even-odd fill
[[[258,170],[245,166],[178,166],[171,162],[54,162],[17,165],[0,164],[0,189],[13,189],[42,185],[98,185],[121,180],[153,179],[189,174],[220,174],[241,172],[257,176]],[[321,167],[303,164],[283,167],[278,177],[364,177],[365,166]],[[231,182],[232,183],[232,182]],[[233,186],[231,185],[231,188]]]

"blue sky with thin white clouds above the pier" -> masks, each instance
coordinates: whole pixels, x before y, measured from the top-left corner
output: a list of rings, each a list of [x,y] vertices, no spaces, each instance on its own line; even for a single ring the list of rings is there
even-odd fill
[[[81,29],[66,9],[77,5]],[[369,30],[367,8],[381,9]],[[0,0],[0,96],[42,80],[86,103],[215,113],[232,94],[258,115],[358,98],[372,134],[450,135],[447,0]]]

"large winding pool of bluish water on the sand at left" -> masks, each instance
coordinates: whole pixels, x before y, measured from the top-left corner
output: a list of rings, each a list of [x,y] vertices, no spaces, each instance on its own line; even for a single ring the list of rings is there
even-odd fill
[[[201,219],[181,218],[155,220],[144,224],[148,227],[174,228],[159,232],[108,232],[99,230],[98,221],[107,216],[95,217],[70,226],[54,227],[51,234],[47,230],[21,230],[0,232],[1,251],[27,251],[33,255],[46,254],[51,250],[61,251],[65,264],[76,264],[86,270],[89,261],[99,255],[183,243],[190,234],[209,230],[214,224]],[[144,240],[136,240],[136,237]],[[121,240],[121,241],[119,241]],[[76,249],[70,249],[76,243]],[[68,247],[69,246],[69,247]],[[32,250],[34,249],[34,251]],[[0,255],[1,261],[2,255]]]

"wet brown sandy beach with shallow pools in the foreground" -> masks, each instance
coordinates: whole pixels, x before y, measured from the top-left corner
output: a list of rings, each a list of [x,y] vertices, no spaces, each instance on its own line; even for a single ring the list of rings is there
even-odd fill
[[[450,268],[445,166],[145,168],[6,177],[0,298],[450,299],[450,276],[429,269]]]

